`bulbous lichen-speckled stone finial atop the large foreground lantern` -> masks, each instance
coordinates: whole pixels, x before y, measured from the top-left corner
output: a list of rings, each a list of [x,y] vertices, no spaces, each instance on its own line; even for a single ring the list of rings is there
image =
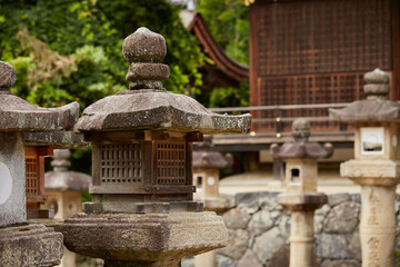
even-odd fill
[[[169,77],[169,67],[162,65],[167,55],[166,39],[141,27],[123,40],[122,53],[129,62],[126,79],[130,90],[161,89],[161,80]]]

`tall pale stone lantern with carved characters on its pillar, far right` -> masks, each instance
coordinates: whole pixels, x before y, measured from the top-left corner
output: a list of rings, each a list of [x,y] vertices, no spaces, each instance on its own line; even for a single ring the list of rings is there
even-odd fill
[[[388,100],[389,81],[379,69],[367,72],[367,99],[329,110],[331,119],[356,127],[354,159],[341,164],[340,175],[361,186],[362,266],[394,266],[400,105]]]

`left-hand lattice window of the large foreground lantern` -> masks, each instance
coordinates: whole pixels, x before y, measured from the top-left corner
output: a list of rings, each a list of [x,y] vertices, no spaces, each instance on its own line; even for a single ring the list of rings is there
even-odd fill
[[[102,184],[142,184],[143,149],[137,144],[103,144],[100,149]]]

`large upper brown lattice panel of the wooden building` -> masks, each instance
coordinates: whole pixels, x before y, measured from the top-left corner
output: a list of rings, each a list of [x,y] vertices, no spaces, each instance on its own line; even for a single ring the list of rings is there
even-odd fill
[[[257,76],[391,70],[391,1],[258,4]]]

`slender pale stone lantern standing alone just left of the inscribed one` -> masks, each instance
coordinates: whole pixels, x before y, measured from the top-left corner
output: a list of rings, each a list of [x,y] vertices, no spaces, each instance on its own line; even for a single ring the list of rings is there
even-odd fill
[[[271,146],[273,157],[286,160],[287,192],[278,196],[278,202],[291,211],[290,266],[314,266],[313,215],[328,201],[324,194],[317,192],[318,158],[330,157],[331,144],[321,146],[309,142],[310,123],[299,118],[292,123],[294,142],[281,147]]]

